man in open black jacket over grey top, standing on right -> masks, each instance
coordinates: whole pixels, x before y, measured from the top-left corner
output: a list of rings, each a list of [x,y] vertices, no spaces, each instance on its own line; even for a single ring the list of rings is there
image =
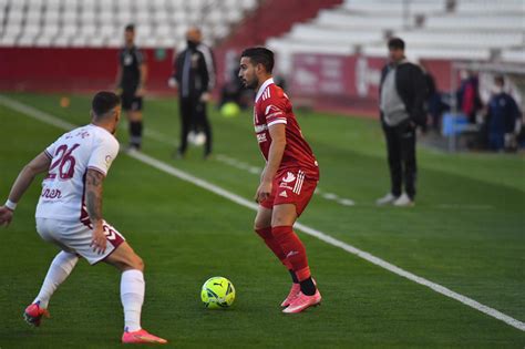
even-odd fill
[[[380,114],[387,138],[391,191],[377,204],[412,206],[418,173],[415,129],[426,123],[426,86],[422,70],[404,57],[404,41],[392,38],[388,48],[390,62],[381,72]]]

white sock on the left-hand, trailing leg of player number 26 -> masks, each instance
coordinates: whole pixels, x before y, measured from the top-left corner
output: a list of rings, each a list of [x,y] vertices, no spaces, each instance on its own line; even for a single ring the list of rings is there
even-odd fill
[[[60,252],[51,263],[48,275],[45,276],[42,288],[40,289],[40,294],[33,302],[40,301],[40,307],[47,309],[51,296],[53,296],[60,284],[70,276],[76,261],[79,261],[79,257],[75,254],[70,254],[63,250]]]

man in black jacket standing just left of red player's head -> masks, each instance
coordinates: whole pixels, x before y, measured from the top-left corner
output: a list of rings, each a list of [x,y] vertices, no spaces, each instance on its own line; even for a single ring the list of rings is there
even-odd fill
[[[200,44],[200,30],[191,28],[186,33],[187,48],[175,59],[174,75],[178,86],[181,111],[181,144],[177,156],[184,157],[187,150],[187,136],[196,126],[202,127],[206,136],[204,157],[212,153],[212,127],[206,112],[214,76],[210,76],[206,57]]]

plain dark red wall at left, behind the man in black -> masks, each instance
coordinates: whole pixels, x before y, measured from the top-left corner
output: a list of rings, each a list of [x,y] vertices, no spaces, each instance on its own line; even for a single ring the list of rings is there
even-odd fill
[[[0,90],[93,91],[113,89],[117,49],[0,48]],[[147,90],[169,92],[172,50],[144,50]]]

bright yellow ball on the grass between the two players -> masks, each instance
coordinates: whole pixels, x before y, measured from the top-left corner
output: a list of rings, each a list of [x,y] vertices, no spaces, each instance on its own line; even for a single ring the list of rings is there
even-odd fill
[[[228,308],[235,300],[234,285],[225,277],[214,276],[204,283],[200,299],[208,309]]]

